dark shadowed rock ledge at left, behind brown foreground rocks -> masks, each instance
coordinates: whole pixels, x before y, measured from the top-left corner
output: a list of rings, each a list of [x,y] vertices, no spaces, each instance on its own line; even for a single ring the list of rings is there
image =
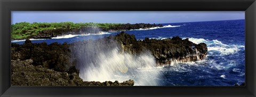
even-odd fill
[[[70,45],[67,43],[58,44],[52,43],[47,45],[43,43],[31,43],[29,39],[26,39],[25,44],[18,45],[12,43],[11,45],[11,59],[12,60],[33,60],[33,65],[41,65],[45,68],[53,69],[60,72],[74,71],[79,74],[78,70],[71,70],[75,66],[70,59]]]

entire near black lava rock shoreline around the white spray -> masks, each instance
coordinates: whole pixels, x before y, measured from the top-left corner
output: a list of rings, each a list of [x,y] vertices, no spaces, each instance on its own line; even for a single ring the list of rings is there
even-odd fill
[[[119,82],[83,82],[79,78],[79,70],[75,67],[78,63],[76,52],[89,41],[71,44],[31,43],[26,39],[25,44],[11,44],[12,60],[12,85],[76,85],[76,86],[132,86],[133,80],[127,79]],[[149,51],[156,59],[156,66],[173,64],[174,62],[191,62],[202,60],[207,54],[205,43],[195,44],[178,36],[168,39],[149,39],[137,41],[134,35],[119,33],[95,40],[103,42],[98,44],[108,51],[117,44],[119,53],[130,53],[134,56]],[[97,52],[95,52],[97,53]],[[51,76],[52,75],[52,76]],[[58,77],[55,77],[57,75]]]

